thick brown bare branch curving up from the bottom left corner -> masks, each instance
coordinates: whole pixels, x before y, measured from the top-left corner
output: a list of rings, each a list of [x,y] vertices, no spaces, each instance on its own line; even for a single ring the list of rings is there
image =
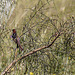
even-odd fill
[[[24,59],[25,57],[36,53],[37,51],[41,51],[42,49],[45,49],[45,48],[48,48],[48,47],[52,46],[53,43],[56,41],[56,39],[57,39],[59,36],[60,36],[60,34],[58,34],[58,35],[56,36],[56,38],[51,42],[51,44],[49,44],[49,45],[47,45],[47,46],[40,47],[40,48],[38,48],[38,49],[35,49],[35,50],[33,50],[33,51],[31,51],[31,52],[25,54],[24,56],[21,56],[20,58],[15,59],[9,66],[7,66],[7,68],[1,73],[1,75],[5,75],[5,74],[8,72],[8,70],[9,70],[13,65],[15,65],[19,60],[22,60],[22,59]]]

